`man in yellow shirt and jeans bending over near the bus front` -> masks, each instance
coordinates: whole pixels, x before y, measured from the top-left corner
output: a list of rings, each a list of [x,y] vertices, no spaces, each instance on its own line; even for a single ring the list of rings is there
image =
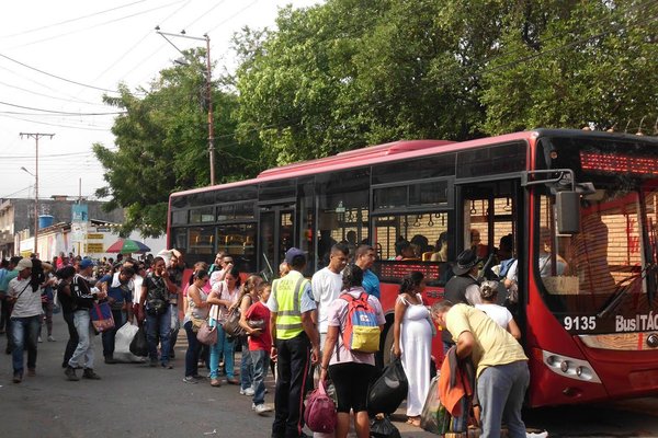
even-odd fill
[[[485,312],[447,300],[432,306],[432,318],[456,342],[457,357],[472,357],[477,369],[477,396],[481,406],[481,438],[499,437],[504,420],[511,438],[524,438],[521,418],[530,383],[527,357],[521,345]]]

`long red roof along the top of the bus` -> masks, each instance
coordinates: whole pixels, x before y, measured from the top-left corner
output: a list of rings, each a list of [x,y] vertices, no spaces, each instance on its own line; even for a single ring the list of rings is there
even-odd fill
[[[235,183],[220,184],[192,188],[189,191],[172,193],[171,197],[204,193],[209,189],[240,187],[249,184],[258,184],[268,181],[275,181],[288,177],[314,175],[325,172],[336,172],[351,168],[360,168],[385,163],[389,161],[413,159],[435,153],[453,152],[483,146],[536,138],[537,136],[574,136],[574,137],[625,137],[643,138],[626,134],[609,134],[601,131],[587,131],[580,129],[535,129],[514,134],[506,134],[496,137],[485,137],[467,141],[450,140],[399,140],[385,145],[368,146],[361,149],[340,152],[336,155],[320,158],[316,160],[300,161],[279,168],[272,168],[261,172],[256,178],[239,181]],[[647,139],[644,137],[643,139]]]

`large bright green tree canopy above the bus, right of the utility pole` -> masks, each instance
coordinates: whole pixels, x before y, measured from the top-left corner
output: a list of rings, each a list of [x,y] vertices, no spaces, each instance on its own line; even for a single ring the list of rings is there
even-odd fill
[[[658,116],[657,13],[647,0],[284,9],[276,31],[236,38],[238,132],[258,132],[274,165],[400,138],[637,126]]]

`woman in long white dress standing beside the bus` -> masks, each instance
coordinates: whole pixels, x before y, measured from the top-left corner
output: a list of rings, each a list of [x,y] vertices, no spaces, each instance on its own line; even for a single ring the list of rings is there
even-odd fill
[[[430,390],[432,321],[422,302],[424,276],[413,270],[405,276],[395,302],[393,354],[402,359],[409,381],[407,423],[420,427],[420,414]]]

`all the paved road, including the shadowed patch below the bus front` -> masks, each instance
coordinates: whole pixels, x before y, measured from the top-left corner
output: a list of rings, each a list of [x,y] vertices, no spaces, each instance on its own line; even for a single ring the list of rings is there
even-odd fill
[[[11,382],[11,358],[0,356],[0,437],[269,437],[272,414],[258,416],[251,397],[238,387],[211,388],[182,382],[185,342],[177,346],[174,369],[102,362],[101,337],[95,337],[100,381],[65,380],[61,356],[66,326],[55,315],[57,342],[38,344],[37,376]],[[181,334],[182,336],[182,334]],[[0,346],[4,349],[5,341]],[[270,377],[272,403],[274,392]],[[404,408],[394,417],[405,438],[435,437],[404,423]],[[524,412],[529,428],[551,437],[658,437],[658,397],[597,405]],[[307,430],[307,433],[309,433]]]

